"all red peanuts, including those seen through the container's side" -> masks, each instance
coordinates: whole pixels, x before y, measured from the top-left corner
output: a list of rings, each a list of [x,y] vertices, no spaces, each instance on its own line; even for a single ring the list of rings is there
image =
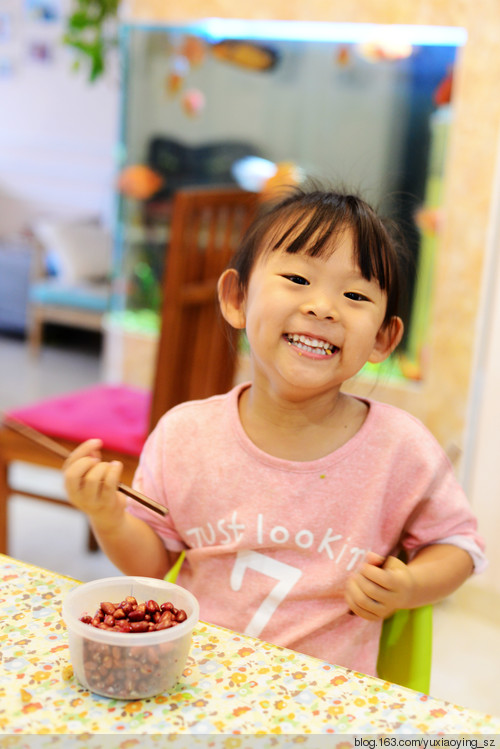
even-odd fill
[[[132,596],[121,603],[101,603],[96,614],[80,621],[114,632],[150,632],[174,627],[187,619],[170,602],[137,603]],[[84,640],[83,666],[90,689],[109,697],[135,699],[163,691],[175,682],[181,653],[176,643],[156,646],[117,646]]]

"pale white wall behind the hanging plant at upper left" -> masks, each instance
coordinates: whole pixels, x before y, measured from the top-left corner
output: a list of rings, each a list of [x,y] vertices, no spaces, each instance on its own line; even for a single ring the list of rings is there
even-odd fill
[[[60,7],[67,10],[69,0],[61,0]],[[14,204],[19,222],[29,221],[32,211],[108,219],[118,134],[117,70],[90,86],[84,72],[72,70],[72,52],[61,45],[60,17],[34,19],[19,0],[4,0],[0,11],[9,19],[8,33],[0,39],[2,228],[15,231]],[[47,57],[37,58],[36,49]]]

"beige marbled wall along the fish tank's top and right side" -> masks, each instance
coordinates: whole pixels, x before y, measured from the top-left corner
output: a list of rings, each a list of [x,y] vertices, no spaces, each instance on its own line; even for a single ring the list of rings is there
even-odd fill
[[[480,301],[486,247],[493,221],[492,184],[500,129],[500,3],[498,0],[130,0],[129,19],[184,21],[208,16],[461,26],[468,41],[458,61],[455,122],[449,145],[444,225],[437,257],[429,360],[423,382],[372,390],[420,417],[455,455],[464,449],[481,332]],[[493,253],[490,253],[491,258]],[[491,261],[491,260],[490,260]],[[498,380],[497,380],[498,381]],[[362,383],[356,386],[364,388]],[[366,390],[364,390],[366,392]],[[498,409],[496,409],[498,413]],[[499,419],[497,418],[496,424]],[[475,424],[471,422],[471,427]],[[476,432],[472,434],[475,437]],[[473,440],[472,440],[473,441]],[[496,444],[498,440],[495,440]],[[468,451],[472,450],[468,443]],[[465,456],[466,460],[469,455]],[[493,458],[491,459],[493,461]],[[494,462],[487,464],[491,469]],[[483,464],[484,468],[484,464]],[[477,474],[476,474],[477,478]],[[494,484],[498,491],[497,484]],[[477,481],[469,482],[472,505],[488,539],[500,525],[498,502]],[[478,495],[485,492],[488,501]],[[495,554],[495,552],[493,552]],[[500,599],[500,560],[485,584]],[[489,610],[494,605],[488,606]],[[484,608],[486,610],[486,607]]]

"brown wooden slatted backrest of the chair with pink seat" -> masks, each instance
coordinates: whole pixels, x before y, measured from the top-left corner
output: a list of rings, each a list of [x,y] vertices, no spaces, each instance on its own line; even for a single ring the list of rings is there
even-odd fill
[[[150,428],[173,406],[232,387],[236,336],[222,319],[217,280],[257,209],[254,193],[185,188],[173,199]]]

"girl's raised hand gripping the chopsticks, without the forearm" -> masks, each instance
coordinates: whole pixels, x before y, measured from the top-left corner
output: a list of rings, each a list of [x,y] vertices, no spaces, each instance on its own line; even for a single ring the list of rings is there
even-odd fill
[[[101,460],[101,440],[79,445],[63,465],[69,501],[85,512],[96,529],[115,526],[125,510],[126,499],[118,492],[123,466]]]

